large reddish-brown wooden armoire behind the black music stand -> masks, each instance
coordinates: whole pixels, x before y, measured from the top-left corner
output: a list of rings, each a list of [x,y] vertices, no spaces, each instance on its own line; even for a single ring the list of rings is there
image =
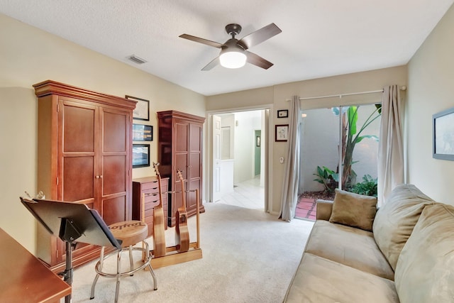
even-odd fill
[[[86,204],[107,225],[131,220],[132,119],[135,101],[54,81],[33,85],[38,97],[38,190],[46,199]],[[38,227],[38,257],[65,267],[65,243]],[[73,265],[99,258],[79,243]]]

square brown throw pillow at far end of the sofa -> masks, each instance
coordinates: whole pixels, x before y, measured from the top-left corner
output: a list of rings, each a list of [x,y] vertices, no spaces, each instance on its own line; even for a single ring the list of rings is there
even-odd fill
[[[372,231],[377,198],[336,189],[329,221]]]

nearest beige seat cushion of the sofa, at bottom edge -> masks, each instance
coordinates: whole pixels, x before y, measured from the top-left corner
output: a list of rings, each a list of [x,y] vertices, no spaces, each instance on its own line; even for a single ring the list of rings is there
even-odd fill
[[[394,282],[304,253],[284,302],[399,302]]]

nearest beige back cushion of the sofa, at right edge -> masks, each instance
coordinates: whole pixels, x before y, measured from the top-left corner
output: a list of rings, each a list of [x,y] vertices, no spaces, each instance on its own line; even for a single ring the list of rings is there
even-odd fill
[[[426,206],[399,255],[401,302],[454,301],[454,206]]]

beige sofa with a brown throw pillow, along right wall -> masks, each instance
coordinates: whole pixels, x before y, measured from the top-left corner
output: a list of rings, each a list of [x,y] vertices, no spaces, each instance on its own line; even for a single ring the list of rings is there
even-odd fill
[[[317,202],[284,302],[454,302],[454,206],[411,184],[376,214],[373,199],[336,191]]]

